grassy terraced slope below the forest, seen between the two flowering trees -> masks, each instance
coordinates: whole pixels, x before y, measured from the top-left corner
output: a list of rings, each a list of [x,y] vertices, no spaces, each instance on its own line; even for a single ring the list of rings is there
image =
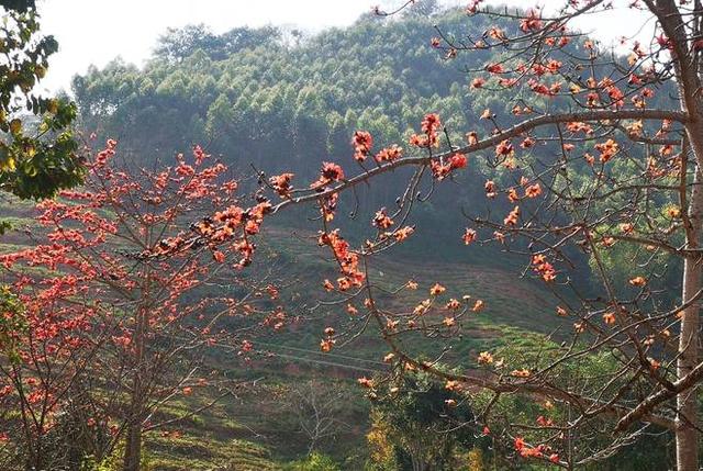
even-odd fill
[[[33,225],[27,218],[31,206],[30,203],[4,205],[1,214],[12,218],[16,227]],[[325,259],[327,253],[316,247],[312,233],[291,234],[291,231],[274,228],[269,229],[266,240],[266,250],[275,253],[280,263],[288,267],[289,273],[299,279],[299,284],[293,287],[299,293],[320,292],[324,276],[334,274],[333,265]],[[26,236],[21,232],[10,232],[1,239],[0,253],[15,250],[26,243]],[[470,294],[484,300],[486,311],[467,323],[466,335],[453,345],[454,355],[466,358],[466,367],[471,368],[472,359],[481,349],[517,339],[523,328],[545,332],[554,326],[556,319],[554,315],[545,313],[545,306],[550,304],[545,301],[548,294],[544,289],[518,277],[522,267],[511,265],[507,258],[501,258],[496,267],[495,258],[483,256],[483,249],[478,246],[464,250],[477,253],[467,255],[465,260],[461,259],[464,253],[458,253],[454,261],[417,256],[410,259],[412,262],[404,262],[392,257],[380,257],[373,262],[370,276],[388,288],[403,284],[409,279],[421,284],[417,292],[403,292],[392,301],[399,306],[414,305],[412,303],[425,298],[428,287],[437,281],[445,284],[453,296]],[[317,343],[331,316],[334,321],[338,313],[325,313],[288,333],[257,340],[259,349],[274,355],[261,355],[261,360],[256,361],[249,370],[233,366],[233,371],[243,378],[263,378],[260,388],[243,393],[237,401],[228,400],[194,419],[181,423],[177,429],[180,436],[149,434],[149,468],[281,469],[281,463],[305,452],[305,440],[298,434],[298,426],[291,422],[290,414],[277,410],[274,397],[279,389],[312,377],[337,378],[342,381],[342,388],[354,390],[358,397],[358,401],[348,405],[347,419],[354,422],[353,427],[343,431],[337,440],[325,444],[324,450],[342,461],[354,450],[362,448],[368,404],[361,392],[355,389],[354,379],[383,368],[378,361],[384,352],[384,346],[369,332],[332,355],[321,354]],[[438,348],[438,344],[424,341],[422,345],[424,350],[417,352],[432,354]],[[207,394],[183,399],[163,411],[163,414],[174,416],[188,405],[207,399]],[[348,464],[348,469],[358,467],[362,455]]]

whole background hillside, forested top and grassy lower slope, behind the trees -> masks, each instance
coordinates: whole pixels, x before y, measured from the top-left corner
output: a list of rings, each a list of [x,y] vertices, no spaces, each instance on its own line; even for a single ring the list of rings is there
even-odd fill
[[[144,70],[118,60],[75,78],[81,127],[98,132],[96,143],[116,138],[119,156],[126,165],[153,166],[157,160],[168,165],[175,152],[198,143],[244,176],[250,175],[254,165],[269,173],[291,169],[301,179],[312,178],[321,160],[347,166],[349,136],[355,130],[372,132],[379,147],[402,143],[427,110],[446,116],[458,141],[462,136],[454,131],[477,125],[472,116],[483,108],[507,109],[507,104],[498,96],[486,101],[470,92],[461,69],[479,63],[447,61],[429,46],[435,21],[450,31],[465,26],[458,12],[387,22],[366,16],[349,29],[328,30],[299,44],[283,41],[274,29],[244,29],[237,31],[237,42],[224,42],[224,52],[219,40],[226,35],[213,37],[197,27],[170,32]],[[186,45],[178,41],[185,33]],[[412,216],[421,223],[415,236],[376,259],[370,272],[389,288],[412,279],[426,290],[442,281],[453,291],[482,299],[487,309],[466,323],[466,335],[453,341],[449,354],[465,358],[467,368],[475,367],[479,351],[509,339],[517,341],[521,329],[548,333],[558,325],[551,312],[544,312],[549,293],[529,277],[518,277],[524,267],[515,258],[494,247],[467,248],[460,239],[466,225],[461,210],[480,212],[486,205],[487,171],[491,170],[472,169],[448,188],[436,189],[433,199],[419,204]],[[399,180],[394,176],[361,190],[361,209],[392,203],[402,190]],[[350,210],[350,202],[342,204]],[[0,250],[31,244],[22,232],[34,227],[31,206],[3,203],[3,217],[18,231],[3,237]],[[437,208],[454,211],[449,218],[439,218]],[[147,439],[152,469],[182,469],[183,460],[189,469],[281,469],[304,457],[308,442],[294,411],[277,412],[276,404],[290,401],[297,384],[321,377],[337,378],[336,388],[350,397],[346,404],[354,407],[341,411],[346,425],[320,448],[344,469],[362,466],[369,403],[355,384],[356,378],[384,371],[381,359],[387,347],[368,329],[331,354],[319,350],[327,325],[344,326],[353,319],[338,310],[310,313],[305,309],[315,303],[323,274],[334,274],[328,254],[314,242],[315,224],[304,222],[314,214],[314,209],[301,209],[277,216],[265,229],[261,247],[267,254],[264,263],[274,260],[294,280],[287,294],[299,300],[291,303],[291,314],[302,321],[286,332],[257,337],[248,365],[232,361],[226,347],[212,352],[213,366],[242,378],[245,388],[236,397],[179,423],[166,435],[152,434]],[[368,232],[366,221],[339,217],[338,224],[356,239]],[[456,237],[447,239],[446,234]],[[416,293],[393,300],[405,307],[419,301]],[[440,340],[419,345],[411,348],[419,355],[444,347]],[[207,402],[210,393],[214,394],[204,392],[202,397],[187,400],[188,406]],[[160,414],[169,418],[181,407],[185,404],[177,402]],[[360,451],[350,453],[355,448]]]

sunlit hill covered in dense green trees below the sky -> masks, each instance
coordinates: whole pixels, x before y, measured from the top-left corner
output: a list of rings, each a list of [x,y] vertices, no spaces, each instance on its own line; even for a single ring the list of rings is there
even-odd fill
[[[403,143],[429,111],[456,131],[480,115],[486,102],[469,92],[467,64],[431,46],[435,23],[458,33],[469,25],[453,11],[364,15],[302,38],[274,27],[215,36],[191,26],[163,36],[144,70],[115,60],[77,77],[74,92],[87,128],[141,152],[203,143],[269,168],[316,166],[348,158],[358,128],[379,145]],[[470,27],[484,29],[476,19]]]

